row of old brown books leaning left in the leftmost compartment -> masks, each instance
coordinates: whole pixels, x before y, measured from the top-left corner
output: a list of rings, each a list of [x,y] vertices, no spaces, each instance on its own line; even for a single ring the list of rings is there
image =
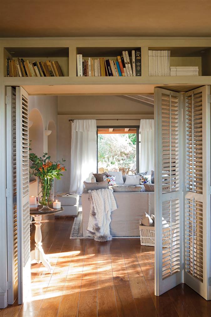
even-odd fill
[[[7,77],[59,77],[63,76],[58,61],[24,61],[6,59]]]

